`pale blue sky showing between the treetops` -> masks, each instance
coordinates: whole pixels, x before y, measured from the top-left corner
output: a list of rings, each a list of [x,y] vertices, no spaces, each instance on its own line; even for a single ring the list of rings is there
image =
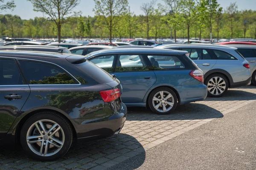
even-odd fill
[[[128,0],[129,6],[131,7],[131,11],[134,14],[139,15],[143,14],[140,10],[140,6],[143,3],[150,2],[151,0]],[[221,7],[227,8],[230,3],[234,3],[238,5],[239,10],[252,9],[256,10],[255,2],[256,0],[218,0],[218,3],[221,4]],[[0,14],[13,14],[18,15],[21,19],[31,19],[34,17],[43,17],[41,12],[33,11],[32,3],[27,0],[15,0],[16,8],[13,11],[1,11]],[[157,3],[163,3],[163,0],[157,0]],[[74,11],[82,11],[83,16],[94,16],[93,12],[94,1],[93,0],[81,0],[79,6],[77,6]],[[157,8],[157,5],[156,5]],[[47,17],[47,16],[45,16]]]

